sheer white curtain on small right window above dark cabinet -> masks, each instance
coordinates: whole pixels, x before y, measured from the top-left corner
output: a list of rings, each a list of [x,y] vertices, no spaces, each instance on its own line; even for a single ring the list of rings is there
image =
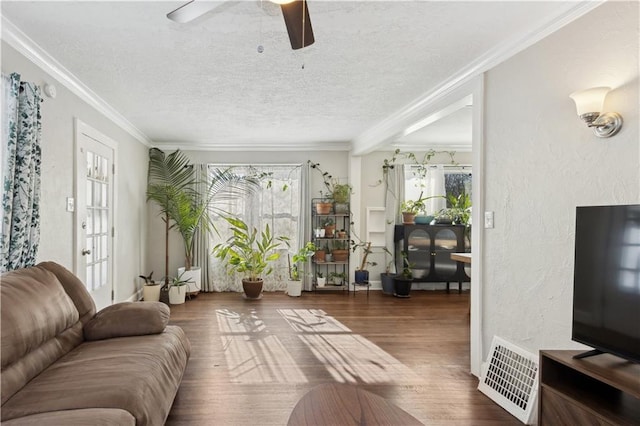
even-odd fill
[[[418,170],[416,166],[404,165],[404,200],[417,200],[436,195],[446,195],[444,166],[442,164],[426,166]],[[435,214],[447,206],[444,198],[432,198],[425,202],[427,214]]]

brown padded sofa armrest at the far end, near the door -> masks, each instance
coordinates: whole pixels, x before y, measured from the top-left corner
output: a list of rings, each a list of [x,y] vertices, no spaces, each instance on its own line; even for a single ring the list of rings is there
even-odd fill
[[[158,334],[169,323],[169,307],[161,302],[123,302],[107,306],[84,326],[85,340]]]

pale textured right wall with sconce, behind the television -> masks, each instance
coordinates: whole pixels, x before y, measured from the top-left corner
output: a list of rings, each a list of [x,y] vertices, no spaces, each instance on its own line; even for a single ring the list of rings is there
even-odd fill
[[[569,94],[611,86],[621,132],[595,137]],[[486,74],[484,355],[571,342],[575,207],[638,203],[638,3],[608,2]]]

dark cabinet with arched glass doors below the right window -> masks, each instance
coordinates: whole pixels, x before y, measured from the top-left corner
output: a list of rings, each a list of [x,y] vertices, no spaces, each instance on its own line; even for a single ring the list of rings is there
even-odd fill
[[[396,264],[401,269],[404,251],[413,267],[414,282],[447,283],[447,291],[451,282],[457,282],[460,291],[462,283],[471,279],[464,265],[451,259],[451,253],[469,251],[465,231],[464,225],[397,225]]]

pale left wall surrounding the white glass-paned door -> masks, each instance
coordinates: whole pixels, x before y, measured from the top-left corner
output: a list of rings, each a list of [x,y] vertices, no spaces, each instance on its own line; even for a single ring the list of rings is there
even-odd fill
[[[2,72],[17,72],[40,86],[53,83],[55,99],[42,104],[42,199],[38,261],[53,260],[73,270],[74,219],[65,210],[74,187],[74,117],[118,142],[116,198],[118,228],[115,294],[125,300],[136,291],[137,276],[146,270],[147,148],[59,84],[6,43],[2,43]]]

